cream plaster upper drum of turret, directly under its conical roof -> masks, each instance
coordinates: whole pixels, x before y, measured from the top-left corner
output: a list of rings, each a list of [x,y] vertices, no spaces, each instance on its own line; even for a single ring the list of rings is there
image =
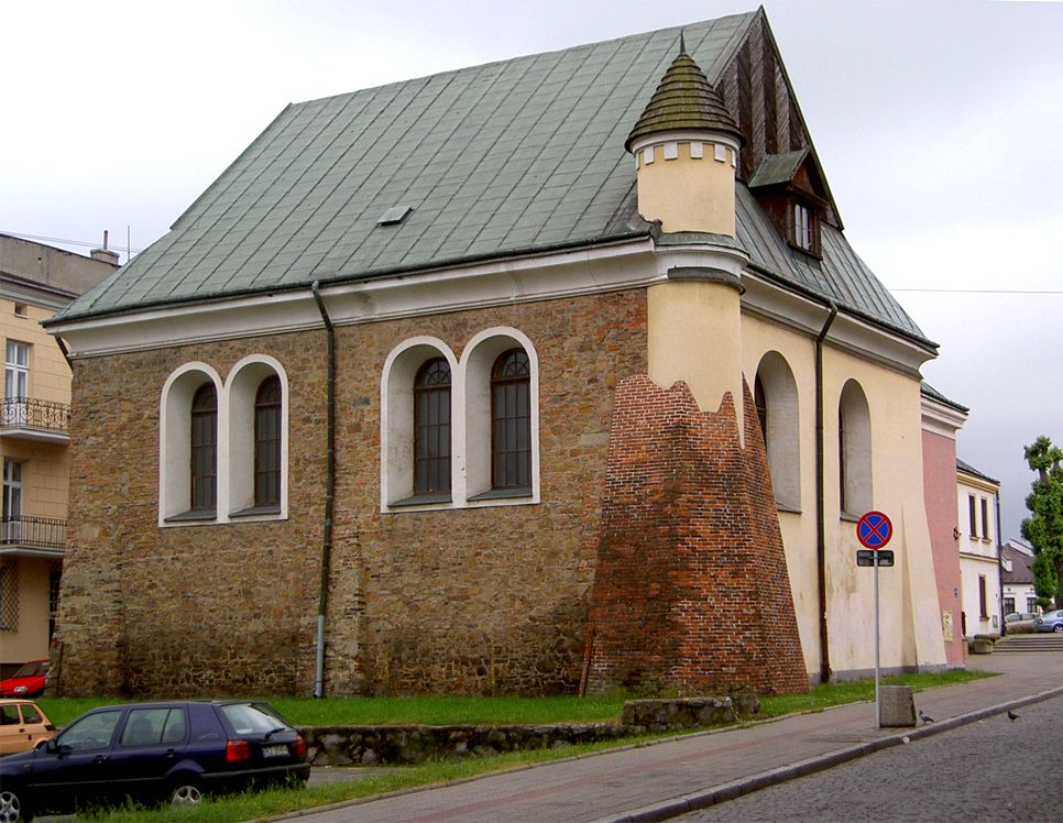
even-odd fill
[[[679,143],[679,156],[665,160],[665,147],[654,146],[654,162],[638,162],[638,213],[647,220],[660,220],[667,232],[705,231],[735,235],[734,166],[726,150],[726,161],[713,156],[711,143],[704,143],[704,157],[690,156],[690,143]]]

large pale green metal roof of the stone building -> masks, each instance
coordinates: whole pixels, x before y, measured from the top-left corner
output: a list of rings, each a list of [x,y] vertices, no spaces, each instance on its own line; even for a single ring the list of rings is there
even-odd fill
[[[683,26],[710,80],[760,14]],[[624,142],[679,37],[665,29],[289,105],[167,234],[57,319],[647,237]],[[756,267],[932,345],[840,231],[824,227],[812,261],[737,189]],[[379,224],[395,206],[408,216]]]

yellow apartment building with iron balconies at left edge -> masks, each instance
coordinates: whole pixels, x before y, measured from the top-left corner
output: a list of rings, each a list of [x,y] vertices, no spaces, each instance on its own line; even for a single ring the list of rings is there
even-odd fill
[[[47,657],[58,601],[69,495],[70,367],[41,321],[118,267],[0,234],[0,673]]]

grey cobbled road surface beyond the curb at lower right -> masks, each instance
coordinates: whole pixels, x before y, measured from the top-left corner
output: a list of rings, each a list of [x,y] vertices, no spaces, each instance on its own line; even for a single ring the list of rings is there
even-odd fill
[[[1063,821],[1063,696],[798,778],[681,821]]]

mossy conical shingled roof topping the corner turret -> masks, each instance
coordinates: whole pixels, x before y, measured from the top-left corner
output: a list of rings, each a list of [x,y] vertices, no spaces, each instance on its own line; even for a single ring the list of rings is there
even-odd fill
[[[624,147],[631,151],[635,141],[648,134],[691,129],[730,134],[742,142],[742,132],[724,106],[723,97],[687,54],[680,39],[679,55],[665,72]]]

